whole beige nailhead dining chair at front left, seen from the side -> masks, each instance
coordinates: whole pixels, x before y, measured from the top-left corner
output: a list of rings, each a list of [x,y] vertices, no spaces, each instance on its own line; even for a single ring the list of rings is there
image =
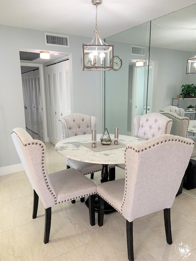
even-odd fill
[[[51,227],[51,207],[76,198],[89,196],[89,217],[91,226],[95,225],[96,185],[78,170],[60,170],[48,174],[46,168],[46,147],[40,140],[32,137],[22,128],[11,132],[14,145],[21,159],[34,192],[33,216],[37,216],[38,200],[45,208],[45,232],[43,242],[49,241]]]

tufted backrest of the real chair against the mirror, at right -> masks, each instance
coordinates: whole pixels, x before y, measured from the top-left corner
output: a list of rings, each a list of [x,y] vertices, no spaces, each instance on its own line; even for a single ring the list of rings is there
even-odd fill
[[[172,122],[160,113],[138,115],[134,118],[134,136],[149,140],[161,134],[170,134]]]

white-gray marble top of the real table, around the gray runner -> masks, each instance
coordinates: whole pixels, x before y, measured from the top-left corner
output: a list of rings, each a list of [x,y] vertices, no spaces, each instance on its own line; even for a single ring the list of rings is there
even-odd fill
[[[102,134],[97,134],[97,141],[100,140]],[[110,134],[112,143],[114,143],[114,134]],[[142,139],[119,135],[119,142],[122,142],[126,145],[128,144],[139,144]],[[98,163],[98,164],[123,164],[125,163],[124,159],[124,147],[112,150],[105,150],[95,152],[91,149],[82,146],[82,143],[92,142],[92,134],[78,135],[66,138],[59,141],[55,150],[64,157],[71,158],[78,161],[89,162],[89,163]],[[110,145],[103,145],[110,146]]]

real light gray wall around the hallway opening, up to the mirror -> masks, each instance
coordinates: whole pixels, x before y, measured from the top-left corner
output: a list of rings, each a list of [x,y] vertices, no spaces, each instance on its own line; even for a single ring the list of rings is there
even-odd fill
[[[25,49],[69,52],[73,76],[73,112],[94,115],[97,132],[102,132],[101,72],[82,71],[82,43],[91,39],[70,35],[70,48],[45,46],[44,31],[0,25],[1,138],[0,167],[19,164],[10,132],[25,129],[25,114],[19,51]]]

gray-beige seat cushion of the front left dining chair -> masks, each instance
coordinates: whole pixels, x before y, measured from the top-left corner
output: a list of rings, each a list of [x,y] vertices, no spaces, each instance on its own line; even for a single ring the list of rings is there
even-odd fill
[[[96,194],[96,185],[77,170],[61,170],[49,177],[56,191],[55,204]]]

